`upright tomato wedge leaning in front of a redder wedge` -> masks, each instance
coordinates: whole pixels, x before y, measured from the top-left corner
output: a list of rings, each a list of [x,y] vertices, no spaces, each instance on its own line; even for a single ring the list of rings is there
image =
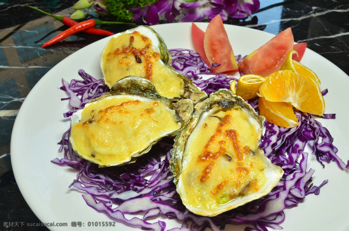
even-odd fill
[[[227,31],[224,29],[221,16],[218,14],[208,24],[203,39],[206,57],[211,64],[220,64],[210,68],[213,73],[227,73],[237,71],[238,65],[231,48]]]

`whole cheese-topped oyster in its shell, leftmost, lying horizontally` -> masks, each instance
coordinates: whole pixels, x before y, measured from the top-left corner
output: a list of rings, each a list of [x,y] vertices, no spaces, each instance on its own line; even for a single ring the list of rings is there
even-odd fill
[[[193,108],[189,99],[171,103],[147,79],[125,77],[72,115],[69,141],[99,167],[132,163],[164,136],[176,135]]]

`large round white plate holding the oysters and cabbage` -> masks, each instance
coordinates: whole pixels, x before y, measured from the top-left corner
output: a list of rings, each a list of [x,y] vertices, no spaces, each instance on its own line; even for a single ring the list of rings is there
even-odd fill
[[[197,23],[205,30],[207,23]],[[235,54],[249,54],[274,35],[259,30],[225,25]],[[153,27],[164,39],[169,49],[193,49],[191,23],[155,25]],[[63,118],[68,111],[64,91],[59,90],[61,79],[80,79],[79,69],[94,77],[102,77],[99,58],[109,38],[101,39],[73,53],[53,67],[31,90],[17,115],[11,140],[11,160],[15,178],[24,199],[43,223],[67,223],[68,227],[49,227],[51,230],[95,230],[88,222],[111,221],[104,213],[98,213],[87,206],[79,190],[68,188],[76,178],[77,171],[71,167],[58,166],[50,161],[61,158],[58,152],[62,134],[69,127],[69,119]],[[348,103],[349,77],[327,59],[307,49],[302,63],[312,69],[321,80],[321,90],[328,88],[325,96],[325,113],[336,113],[335,120],[319,119],[334,137],[338,155],[346,162],[349,159]],[[344,105],[344,106],[343,106]],[[321,165],[309,155],[308,169],[315,169],[313,182],[328,184],[320,194],[306,196],[303,202],[286,209],[285,221],[281,224],[285,231],[293,230],[349,230],[347,208],[349,200],[349,174],[340,170],[333,162]],[[176,221],[166,219],[167,227]],[[71,222],[82,222],[83,228],[71,227]],[[179,224],[179,223],[178,223]],[[177,225],[178,225],[177,224]],[[133,229],[116,223],[121,230]],[[180,226],[179,226],[180,227]],[[123,229],[124,228],[124,229]],[[245,225],[227,225],[225,230],[243,230]],[[115,230],[115,227],[112,227]],[[134,229],[138,229],[134,228]],[[103,230],[109,230],[103,227]]]

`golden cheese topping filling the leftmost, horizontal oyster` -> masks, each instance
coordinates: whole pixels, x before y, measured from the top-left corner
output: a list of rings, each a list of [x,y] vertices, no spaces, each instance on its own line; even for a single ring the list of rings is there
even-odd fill
[[[80,156],[101,166],[127,161],[153,141],[180,128],[174,111],[156,100],[117,96],[85,107],[70,141]]]

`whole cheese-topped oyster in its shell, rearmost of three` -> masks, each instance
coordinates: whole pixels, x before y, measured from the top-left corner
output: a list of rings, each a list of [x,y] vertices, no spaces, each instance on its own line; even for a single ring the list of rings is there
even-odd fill
[[[101,55],[104,81],[110,88],[123,77],[139,76],[149,79],[160,95],[174,101],[189,98],[197,103],[207,97],[171,64],[171,55],[164,40],[148,26],[114,35]]]

